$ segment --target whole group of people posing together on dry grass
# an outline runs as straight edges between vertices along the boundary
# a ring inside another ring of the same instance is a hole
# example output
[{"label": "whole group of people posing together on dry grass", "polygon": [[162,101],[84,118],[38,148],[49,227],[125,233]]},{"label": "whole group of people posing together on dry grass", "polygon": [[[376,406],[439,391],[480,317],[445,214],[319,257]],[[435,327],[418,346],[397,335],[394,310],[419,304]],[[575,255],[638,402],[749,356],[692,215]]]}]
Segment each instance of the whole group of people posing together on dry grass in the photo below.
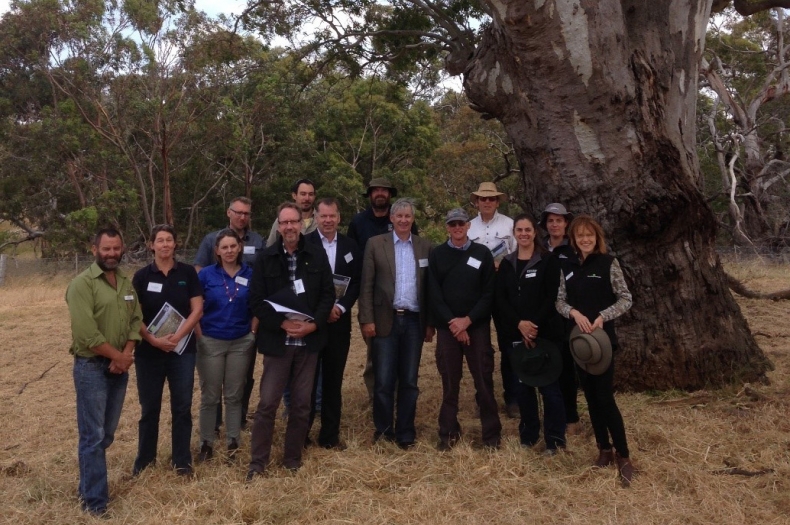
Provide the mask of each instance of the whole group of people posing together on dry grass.
[{"label": "whole group of people posing together on dry grass", "polygon": [[[417,235],[415,207],[387,180],[374,178],[369,206],[338,231],[332,198],[316,203],[308,179],[292,187],[266,240],[250,229],[251,201],[236,198],[229,227],[208,234],[193,265],[175,259],[170,225],[153,228],[153,261],[129,279],[118,269],[124,245],[114,229],[94,237],[95,262],[69,285],[79,430],[79,496],[102,514],[108,504],[104,453],[117,428],[128,381],[137,367],[141,406],[137,475],[156,462],[164,384],[170,391],[171,465],[193,473],[194,372],[200,386],[200,449],[215,455],[225,425],[225,460],[234,463],[247,424],[255,354],[263,355],[260,397],[252,419],[247,481],[270,463],[278,408],[288,400],[282,465],[297,470],[321,398],[318,445],[342,450],[342,381],[358,302],[367,344],[365,383],[374,441],[415,445],[418,370],[424,342],[436,337],[442,381],[437,449],[462,436],[460,380],[466,359],[475,388],[482,445],[498,448],[502,425],[494,392],[493,318],[501,353],[504,401],[517,417],[523,446],[540,435],[545,453],[565,447],[578,427],[577,377],[599,448],[598,467],[617,464],[625,482],[629,460],[623,420],[613,396],[617,338],[612,320],[631,296],[603,230],[592,218],[551,204],[540,222],[497,210],[506,196],[484,182],[472,193],[472,219],[462,208],[446,215],[448,240]],[[571,221],[571,219],[573,219]],[[548,232],[539,237],[538,227]],[[224,407],[224,413],[223,413]],[[223,421],[224,420],[224,421]]]}]

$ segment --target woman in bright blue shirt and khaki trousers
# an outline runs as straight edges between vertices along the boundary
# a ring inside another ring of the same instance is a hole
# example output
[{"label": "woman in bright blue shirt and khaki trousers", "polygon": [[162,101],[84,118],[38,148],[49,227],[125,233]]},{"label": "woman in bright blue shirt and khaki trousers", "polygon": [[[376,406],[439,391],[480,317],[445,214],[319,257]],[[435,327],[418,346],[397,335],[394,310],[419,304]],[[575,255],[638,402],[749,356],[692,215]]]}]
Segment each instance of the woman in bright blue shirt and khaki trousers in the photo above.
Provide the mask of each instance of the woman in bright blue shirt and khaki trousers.
[{"label": "woman in bright blue shirt and khaki trousers", "polygon": [[198,462],[214,455],[217,404],[225,397],[225,439],[228,460],[235,458],[241,434],[241,400],[247,368],[255,357],[253,343],[258,319],[250,313],[252,268],[242,262],[243,246],[231,229],[214,242],[217,264],[198,274],[205,304],[200,320],[197,368],[200,375],[200,454]]}]

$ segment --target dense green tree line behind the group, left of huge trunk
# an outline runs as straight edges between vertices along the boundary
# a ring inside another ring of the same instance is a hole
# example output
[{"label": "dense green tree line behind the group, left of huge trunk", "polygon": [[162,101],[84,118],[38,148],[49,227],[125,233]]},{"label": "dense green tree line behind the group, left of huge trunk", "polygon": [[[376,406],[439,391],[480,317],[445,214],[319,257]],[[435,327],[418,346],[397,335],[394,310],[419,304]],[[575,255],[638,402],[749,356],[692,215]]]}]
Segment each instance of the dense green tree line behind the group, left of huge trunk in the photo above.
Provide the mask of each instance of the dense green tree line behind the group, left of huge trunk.
[{"label": "dense green tree line behind the group, left of huge trunk", "polygon": [[467,106],[319,70],[180,2],[19,2],[0,21],[0,219],[45,256],[86,250],[101,224],[139,248],[172,223],[189,247],[236,195],[266,230],[298,178],[350,219],[383,176],[427,226],[509,175],[501,126]]}]

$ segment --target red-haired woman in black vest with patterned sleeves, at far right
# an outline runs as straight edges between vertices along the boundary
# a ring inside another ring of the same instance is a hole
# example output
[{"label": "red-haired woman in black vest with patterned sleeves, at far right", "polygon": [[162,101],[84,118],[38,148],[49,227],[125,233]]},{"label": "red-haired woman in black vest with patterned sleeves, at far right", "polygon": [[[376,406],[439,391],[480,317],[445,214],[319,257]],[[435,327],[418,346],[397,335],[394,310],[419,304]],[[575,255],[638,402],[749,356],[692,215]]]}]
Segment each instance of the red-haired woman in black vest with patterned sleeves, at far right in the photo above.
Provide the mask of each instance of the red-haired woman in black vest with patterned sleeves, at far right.
[{"label": "red-haired woman in black vest with patterned sleeves, at far right", "polygon": [[572,319],[582,333],[602,328],[612,344],[612,361],[603,373],[593,375],[579,367],[599,450],[595,466],[606,467],[616,461],[623,481],[630,483],[634,467],[629,460],[623,417],[614,399],[614,355],[618,346],[613,320],[631,308],[631,292],[617,259],[606,253],[603,229],[595,219],[576,217],[568,236],[579,259],[563,262],[557,311]]}]

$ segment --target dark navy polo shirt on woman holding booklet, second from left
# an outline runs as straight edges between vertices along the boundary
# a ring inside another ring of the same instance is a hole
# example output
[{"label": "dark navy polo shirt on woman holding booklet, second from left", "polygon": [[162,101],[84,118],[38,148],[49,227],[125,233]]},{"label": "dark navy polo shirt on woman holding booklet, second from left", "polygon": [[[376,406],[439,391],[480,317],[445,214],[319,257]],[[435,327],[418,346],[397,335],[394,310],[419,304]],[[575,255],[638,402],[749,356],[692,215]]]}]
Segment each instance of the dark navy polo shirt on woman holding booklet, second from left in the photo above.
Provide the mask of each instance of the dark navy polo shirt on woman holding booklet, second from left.
[{"label": "dark navy polo shirt on woman holding booklet, second from left", "polygon": [[[161,288],[160,286],[161,285]],[[140,268],[132,278],[132,286],[140,298],[143,310],[143,323],[146,326],[154,319],[162,306],[170,303],[178,313],[189,317],[192,312],[190,301],[193,297],[203,295],[203,287],[198,280],[197,272],[189,265],[176,261],[175,266],[165,275],[157,268],[156,262]],[[160,291],[157,291],[160,290]],[[195,337],[190,338],[184,352],[195,352]],[[138,350],[155,350],[147,341],[140,341]]]}]

